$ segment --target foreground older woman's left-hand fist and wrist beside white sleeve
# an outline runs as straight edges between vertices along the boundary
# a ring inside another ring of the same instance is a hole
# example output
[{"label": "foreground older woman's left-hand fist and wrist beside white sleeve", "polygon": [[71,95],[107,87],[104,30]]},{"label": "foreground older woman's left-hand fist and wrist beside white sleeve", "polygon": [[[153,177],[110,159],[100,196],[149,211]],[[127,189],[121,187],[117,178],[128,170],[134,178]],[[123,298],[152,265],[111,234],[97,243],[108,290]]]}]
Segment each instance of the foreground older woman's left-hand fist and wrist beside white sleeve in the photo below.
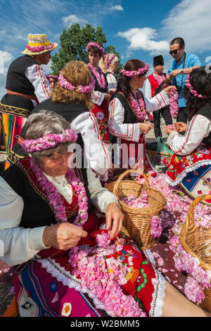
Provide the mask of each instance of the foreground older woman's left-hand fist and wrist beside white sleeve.
[{"label": "foreground older woman's left-hand fist and wrist beside white sleeve", "polygon": [[45,246],[66,251],[76,246],[81,237],[87,237],[87,235],[87,231],[84,231],[82,227],[70,223],[59,223],[45,228],[43,242]]}]

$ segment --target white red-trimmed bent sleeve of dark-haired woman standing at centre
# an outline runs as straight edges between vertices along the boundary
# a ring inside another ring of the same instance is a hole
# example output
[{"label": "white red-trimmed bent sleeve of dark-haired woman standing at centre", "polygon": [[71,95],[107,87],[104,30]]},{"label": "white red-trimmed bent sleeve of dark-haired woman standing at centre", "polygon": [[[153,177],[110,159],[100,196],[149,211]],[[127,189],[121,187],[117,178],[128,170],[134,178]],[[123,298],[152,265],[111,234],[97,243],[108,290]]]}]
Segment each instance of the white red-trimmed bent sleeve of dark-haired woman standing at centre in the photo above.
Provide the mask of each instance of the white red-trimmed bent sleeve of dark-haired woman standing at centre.
[{"label": "white red-trimmed bent sleeve of dark-haired woman standing at centre", "polygon": [[111,134],[117,138],[139,142],[141,133],[139,123],[124,123],[124,108],[117,98],[109,105],[108,127]]}]

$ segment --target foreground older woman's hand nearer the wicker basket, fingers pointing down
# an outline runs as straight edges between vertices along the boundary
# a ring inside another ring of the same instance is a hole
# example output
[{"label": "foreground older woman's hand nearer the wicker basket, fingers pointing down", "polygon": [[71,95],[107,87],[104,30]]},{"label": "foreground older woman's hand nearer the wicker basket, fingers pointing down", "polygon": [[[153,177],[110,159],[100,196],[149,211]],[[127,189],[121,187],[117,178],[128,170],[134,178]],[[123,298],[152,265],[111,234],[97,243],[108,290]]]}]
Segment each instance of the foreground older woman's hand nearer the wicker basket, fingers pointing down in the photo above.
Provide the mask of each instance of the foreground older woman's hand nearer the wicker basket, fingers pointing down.
[{"label": "foreground older woman's hand nearer the wicker basket, fingers pointing down", "polygon": [[122,229],[123,218],[124,214],[120,206],[115,202],[110,202],[106,208],[106,229],[108,230],[110,239],[116,237]]}]

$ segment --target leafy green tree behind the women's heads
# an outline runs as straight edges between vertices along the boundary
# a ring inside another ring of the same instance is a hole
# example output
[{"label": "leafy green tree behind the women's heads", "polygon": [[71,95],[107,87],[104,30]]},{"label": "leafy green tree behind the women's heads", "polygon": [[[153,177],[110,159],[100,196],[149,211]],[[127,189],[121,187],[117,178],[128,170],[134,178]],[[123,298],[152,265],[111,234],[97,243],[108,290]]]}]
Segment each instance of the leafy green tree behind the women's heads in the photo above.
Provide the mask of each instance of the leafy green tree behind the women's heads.
[{"label": "leafy green tree behind the women's heads", "polygon": [[[114,46],[106,46],[106,35],[101,27],[92,27],[87,24],[85,27],[80,27],[78,23],[72,24],[66,30],[63,29],[60,35],[60,49],[58,53],[51,56],[51,70],[53,75],[58,75],[59,71],[71,60],[89,62],[86,46],[89,42],[98,42],[103,46],[105,53],[114,53],[120,59],[120,54],[115,50]],[[119,60],[118,71],[123,68]]]}]

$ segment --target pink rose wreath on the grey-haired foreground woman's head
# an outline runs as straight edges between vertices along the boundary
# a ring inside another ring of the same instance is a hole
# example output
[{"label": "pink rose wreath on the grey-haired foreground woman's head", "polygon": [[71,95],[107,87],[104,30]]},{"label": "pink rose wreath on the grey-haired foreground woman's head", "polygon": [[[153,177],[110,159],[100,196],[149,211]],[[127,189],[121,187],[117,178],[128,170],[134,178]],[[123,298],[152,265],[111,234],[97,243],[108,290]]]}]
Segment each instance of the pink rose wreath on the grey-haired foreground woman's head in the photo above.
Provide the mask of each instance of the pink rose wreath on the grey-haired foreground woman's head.
[{"label": "pink rose wreath on the grey-haired foreground woman's head", "polygon": [[38,139],[25,139],[21,144],[22,148],[28,153],[34,151],[44,151],[44,149],[51,149],[62,142],[76,142],[77,133],[72,129],[65,130],[65,133],[49,134]]}]

